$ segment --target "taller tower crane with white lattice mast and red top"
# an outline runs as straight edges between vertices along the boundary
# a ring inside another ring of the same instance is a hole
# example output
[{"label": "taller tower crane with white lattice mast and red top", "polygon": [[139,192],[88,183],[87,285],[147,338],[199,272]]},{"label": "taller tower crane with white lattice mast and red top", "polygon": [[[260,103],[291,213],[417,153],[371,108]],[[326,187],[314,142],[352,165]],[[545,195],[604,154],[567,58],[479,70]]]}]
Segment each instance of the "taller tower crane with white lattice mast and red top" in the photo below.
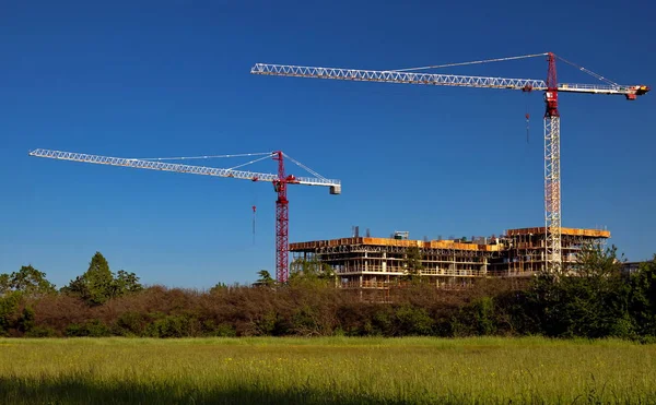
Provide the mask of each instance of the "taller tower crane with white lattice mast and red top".
[{"label": "taller tower crane with white lattice mast and red top", "polygon": [[[487,62],[507,61],[524,58],[547,57],[547,80],[534,79],[505,79],[484,78],[456,74],[435,74],[414,72],[419,70],[450,68],[465,64],[479,64]],[[578,70],[593,75],[605,84],[567,84],[558,83],[555,60],[576,67]],[[560,184],[560,112],[558,109],[559,93],[586,93],[623,95],[629,100],[646,94],[651,88],[646,85],[620,85],[594,73],[583,67],[576,65],[553,52],[526,55],[518,57],[478,60],[422,68],[397,70],[361,70],[343,68],[319,68],[292,64],[256,63],[250,69],[251,74],[333,79],[358,82],[383,82],[424,84],[436,86],[480,87],[520,90],[523,92],[544,92],[544,261],[546,271],[559,273],[562,267],[561,255],[561,184]]]}]

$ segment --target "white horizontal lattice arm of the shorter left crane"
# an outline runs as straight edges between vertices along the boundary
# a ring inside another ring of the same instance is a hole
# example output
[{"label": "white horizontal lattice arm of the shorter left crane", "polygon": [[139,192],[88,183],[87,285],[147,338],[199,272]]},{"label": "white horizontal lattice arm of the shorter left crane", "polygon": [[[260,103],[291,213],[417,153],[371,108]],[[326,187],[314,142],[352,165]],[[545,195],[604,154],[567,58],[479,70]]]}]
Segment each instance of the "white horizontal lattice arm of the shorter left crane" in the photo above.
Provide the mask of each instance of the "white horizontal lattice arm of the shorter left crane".
[{"label": "white horizontal lattice arm of the shorter left crane", "polygon": [[[97,165],[133,167],[133,168],[138,168],[138,169],[187,172],[187,174],[191,174],[191,175],[204,175],[204,176],[216,176],[216,177],[232,177],[232,178],[236,178],[236,179],[244,179],[244,180],[251,180],[251,181],[271,181],[271,182],[273,182],[273,181],[278,180],[278,176],[272,175],[272,174],[221,169],[221,168],[215,168],[215,167],[180,165],[180,164],[175,164],[175,163],[131,159],[131,158],[126,158],[126,157],[97,156],[97,155],[87,155],[87,154],[83,154],[83,153],[49,151],[49,150],[42,150],[42,148],[30,152],[30,156],[47,157],[47,158],[59,159],[59,160],[93,163],[93,164],[97,164]],[[293,184],[304,184],[304,186],[326,186],[326,187],[333,187],[333,188],[338,188],[338,189],[340,187],[339,180],[319,179],[319,178],[312,178],[312,177],[290,176],[290,177],[288,177],[285,182],[293,183]]]}]

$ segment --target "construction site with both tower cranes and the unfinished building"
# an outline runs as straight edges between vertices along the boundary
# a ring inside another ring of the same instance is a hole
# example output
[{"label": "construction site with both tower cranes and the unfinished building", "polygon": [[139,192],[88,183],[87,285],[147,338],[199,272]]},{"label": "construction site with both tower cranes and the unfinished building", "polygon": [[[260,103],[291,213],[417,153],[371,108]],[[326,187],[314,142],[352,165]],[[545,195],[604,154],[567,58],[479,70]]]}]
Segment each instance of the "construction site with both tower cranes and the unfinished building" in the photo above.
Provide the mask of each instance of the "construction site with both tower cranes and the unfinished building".
[{"label": "construction site with both tower cranes and the unfinished building", "polygon": [[[544,57],[547,79],[508,79],[495,76],[469,76],[443,73],[426,73],[425,69],[471,65]],[[585,72],[602,84],[559,83],[557,60]],[[539,228],[508,229],[500,237],[472,238],[471,240],[411,240],[408,233],[396,233],[389,238],[352,238],[289,242],[289,186],[324,187],[332,195],[341,194],[342,183],[329,179],[295,160],[282,151],[231,155],[202,155],[153,158],[126,158],[91,155],[37,148],[31,156],[58,160],[91,163],[97,165],[131,167],[149,170],[185,172],[192,175],[224,177],[268,182],[273,184],[276,200],[276,279],[285,283],[290,274],[289,255],[298,261],[313,260],[330,266],[339,276],[343,288],[386,289],[408,276],[425,277],[431,284],[443,288],[460,288],[481,277],[527,277],[538,272],[560,274],[567,272],[576,260],[577,252],[588,242],[604,241],[610,237],[607,230],[576,229],[562,227],[561,199],[561,127],[559,94],[588,94],[622,96],[635,100],[647,94],[649,86],[643,84],[621,85],[595,72],[558,57],[553,52],[517,57],[448,63],[442,65],[410,68],[402,70],[362,70],[350,68],[321,68],[292,64],[256,63],[251,74],[265,76],[314,78],[350,82],[402,83],[427,86],[475,87],[515,90],[523,93],[543,92],[544,98],[544,226]],[[528,121],[529,114],[526,114]],[[229,168],[194,166],[166,160],[210,159],[248,157],[249,162]],[[257,162],[272,159],[277,163],[276,174],[235,170]],[[297,177],[289,174],[286,163],[293,163],[314,177]],[[253,205],[253,229],[255,235],[256,206]]]}]

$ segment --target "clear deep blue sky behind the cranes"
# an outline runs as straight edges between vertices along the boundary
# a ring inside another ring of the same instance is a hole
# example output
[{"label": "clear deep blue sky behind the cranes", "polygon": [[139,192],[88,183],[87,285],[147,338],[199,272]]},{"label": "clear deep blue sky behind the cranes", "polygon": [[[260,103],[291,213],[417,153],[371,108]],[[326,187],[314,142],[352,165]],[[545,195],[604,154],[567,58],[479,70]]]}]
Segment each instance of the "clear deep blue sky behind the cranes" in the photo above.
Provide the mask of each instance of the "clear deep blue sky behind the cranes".
[{"label": "clear deep blue sky behind the cranes", "polygon": [[[618,83],[656,85],[656,29],[644,17],[653,2],[550,4],[4,2],[0,272],[31,263],[62,286],[95,251],[145,284],[207,288],[273,271],[270,184],[28,157],[36,147],[121,157],[282,150],[342,181],[341,195],[290,188],[292,241],[348,237],[353,225],[417,239],[542,226],[541,94],[249,71],[553,51]],[[547,63],[447,72],[544,79]],[[563,63],[559,80],[596,83]],[[561,96],[563,226],[607,227],[631,260],[656,252],[655,97]]]}]

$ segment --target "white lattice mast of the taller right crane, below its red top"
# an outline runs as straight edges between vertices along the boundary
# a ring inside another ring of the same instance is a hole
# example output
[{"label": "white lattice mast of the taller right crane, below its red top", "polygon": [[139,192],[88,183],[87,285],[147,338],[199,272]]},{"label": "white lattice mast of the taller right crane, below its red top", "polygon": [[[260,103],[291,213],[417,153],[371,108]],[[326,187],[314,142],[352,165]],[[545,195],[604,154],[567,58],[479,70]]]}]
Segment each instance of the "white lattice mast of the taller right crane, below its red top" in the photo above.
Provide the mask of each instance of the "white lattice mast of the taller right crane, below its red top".
[{"label": "white lattice mast of the taller right crane, below its red top", "polygon": [[544,224],[546,270],[558,274],[562,270],[560,117],[544,117]]}]

